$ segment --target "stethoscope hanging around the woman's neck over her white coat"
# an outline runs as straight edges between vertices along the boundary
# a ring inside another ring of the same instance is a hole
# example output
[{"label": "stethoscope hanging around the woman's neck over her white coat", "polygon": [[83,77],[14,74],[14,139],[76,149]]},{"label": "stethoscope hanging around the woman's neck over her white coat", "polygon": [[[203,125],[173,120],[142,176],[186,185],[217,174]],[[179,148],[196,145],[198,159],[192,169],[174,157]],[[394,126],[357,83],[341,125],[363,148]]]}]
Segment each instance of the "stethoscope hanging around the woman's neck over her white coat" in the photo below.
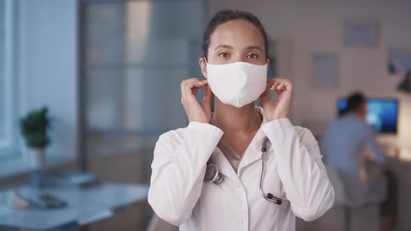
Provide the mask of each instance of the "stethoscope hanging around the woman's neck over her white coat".
[{"label": "stethoscope hanging around the woman's neck over her white coat", "polygon": [[[261,147],[261,152],[263,152],[261,156],[261,177],[260,177],[260,192],[261,195],[265,200],[268,200],[270,202],[274,202],[277,205],[281,205],[281,203],[284,200],[287,200],[286,198],[279,198],[272,193],[267,193],[265,194],[263,191],[263,177],[264,177],[264,169],[265,169],[265,161],[267,160],[267,144],[268,138],[265,138],[263,141],[263,147]],[[204,181],[206,182],[213,182],[215,184],[220,184],[224,179],[224,176],[222,173],[219,172],[219,168],[213,164],[211,161],[207,162],[207,167],[206,167],[206,175],[204,176]]]}]

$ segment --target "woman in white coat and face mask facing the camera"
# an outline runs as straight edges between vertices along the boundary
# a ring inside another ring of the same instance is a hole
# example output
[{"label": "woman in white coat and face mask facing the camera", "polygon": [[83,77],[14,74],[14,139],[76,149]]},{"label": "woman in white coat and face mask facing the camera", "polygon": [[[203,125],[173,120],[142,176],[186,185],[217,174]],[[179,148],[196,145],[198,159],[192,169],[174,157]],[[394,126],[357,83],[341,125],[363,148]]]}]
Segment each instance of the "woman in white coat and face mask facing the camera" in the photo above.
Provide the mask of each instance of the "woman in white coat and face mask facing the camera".
[{"label": "woman in white coat and face mask facing the camera", "polygon": [[[295,230],[295,215],[313,221],[334,203],[317,141],[288,120],[293,83],[267,80],[267,43],[251,13],[222,10],[208,24],[206,79],[181,83],[189,125],[160,136],[148,193],[155,213],[180,230]],[[212,179],[213,166],[222,179]]]}]

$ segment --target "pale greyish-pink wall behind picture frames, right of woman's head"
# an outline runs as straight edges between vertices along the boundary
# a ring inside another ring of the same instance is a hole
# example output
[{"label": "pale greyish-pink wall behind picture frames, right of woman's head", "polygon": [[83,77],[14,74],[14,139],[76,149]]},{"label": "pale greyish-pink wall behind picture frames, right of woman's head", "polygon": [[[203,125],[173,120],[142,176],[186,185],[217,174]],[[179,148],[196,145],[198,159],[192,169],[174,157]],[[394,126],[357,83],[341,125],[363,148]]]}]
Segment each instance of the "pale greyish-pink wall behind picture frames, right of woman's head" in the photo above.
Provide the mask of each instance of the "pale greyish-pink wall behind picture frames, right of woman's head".
[{"label": "pale greyish-pink wall behind picture frames, right of woman's head", "polygon": [[[222,8],[248,10],[261,19],[270,38],[293,40],[293,74],[281,77],[295,83],[292,120],[297,125],[320,125],[336,116],[336,99],[353,90],[369,96],[394,96],[398,77],[387,74],[387,50],[411,47],[410,1],[270,1],[210,0],[208,19]],[[344,20],[377,19],[378,47],[343,47]],[[312,54],[332,51],[339,58],[338,90],[314,90]],[[280,67],[281,68],[281,67]],[[408,122],[409,124],[409,122]],[[318,128],[320,127],[320,128]],[[410,127],[410,125],[408,125]],[[313,131],[320,133],[321,131]]]}]

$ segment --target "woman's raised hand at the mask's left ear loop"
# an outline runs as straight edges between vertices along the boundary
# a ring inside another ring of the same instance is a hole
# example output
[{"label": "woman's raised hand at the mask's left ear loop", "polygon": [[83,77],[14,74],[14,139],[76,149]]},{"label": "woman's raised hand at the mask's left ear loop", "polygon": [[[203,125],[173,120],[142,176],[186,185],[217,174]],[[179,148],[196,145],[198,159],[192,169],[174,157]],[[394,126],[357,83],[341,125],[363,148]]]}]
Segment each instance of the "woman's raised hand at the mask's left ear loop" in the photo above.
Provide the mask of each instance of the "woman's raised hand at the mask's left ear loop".
[{"label": "woman's raised hand at the mask's left ear loop", "polygon": [[[196,99],[196,93],[203,87],[203,102],[199,103]],[[200,81],[199,79],[192,78],[181,82],[181,104],[183,104],[189,122],[210,123],[211,97],[212,93],[207,79]]]}]

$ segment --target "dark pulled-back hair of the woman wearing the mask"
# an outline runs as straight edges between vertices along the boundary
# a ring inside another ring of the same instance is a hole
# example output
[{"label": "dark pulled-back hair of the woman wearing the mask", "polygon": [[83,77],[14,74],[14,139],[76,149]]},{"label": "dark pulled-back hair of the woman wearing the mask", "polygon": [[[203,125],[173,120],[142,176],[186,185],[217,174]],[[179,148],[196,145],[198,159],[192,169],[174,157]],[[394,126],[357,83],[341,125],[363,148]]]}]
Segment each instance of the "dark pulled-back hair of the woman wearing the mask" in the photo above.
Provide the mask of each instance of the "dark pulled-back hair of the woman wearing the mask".
[{"label": "dark pulled-back hair of the woman wearing the mask", "polygon": [[256,26],[256,28],[261,32],[264,38],[264,45],[265,45],[265,58],[268,56],[268,38],[267,33],[265,33],[265,29],[263,24],[261,24],[260,19],[255,15],[247,12],[247,11],[240,11],[240,10],[230,10],[224,9],[217,12],[214,17],[208,22],[206,31],[204,31],[203,36],[203,56],[207,57],[208,53],[208,46],[210,45],[210,37],[212,33],[215,31],[217,26],[223,24],[224,22],[229,22],[235,19],[244,19],[247,22],[251,22]]}]

